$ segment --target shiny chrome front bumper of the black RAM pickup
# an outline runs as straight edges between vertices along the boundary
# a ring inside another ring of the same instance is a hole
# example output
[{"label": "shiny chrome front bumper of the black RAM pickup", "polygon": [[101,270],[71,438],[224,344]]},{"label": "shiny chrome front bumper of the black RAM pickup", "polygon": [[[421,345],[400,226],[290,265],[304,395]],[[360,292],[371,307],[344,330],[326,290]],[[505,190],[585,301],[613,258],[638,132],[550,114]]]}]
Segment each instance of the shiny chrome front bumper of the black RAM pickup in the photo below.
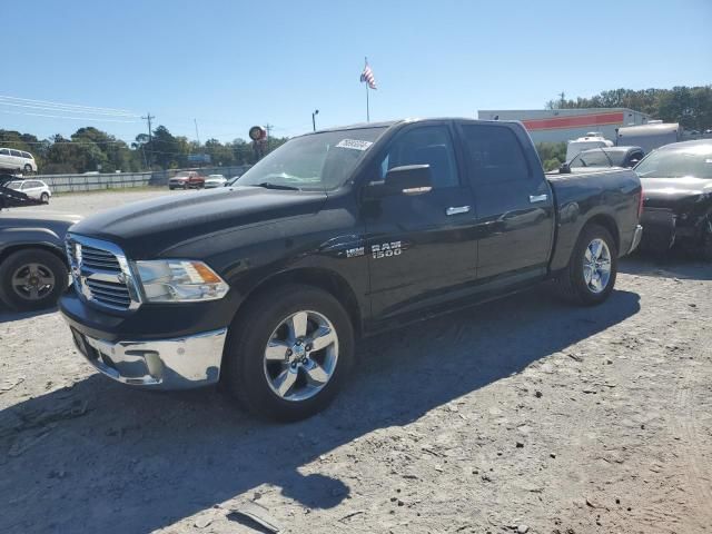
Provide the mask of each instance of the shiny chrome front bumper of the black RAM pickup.
[{"label": "shiny chrome front bumper of the black RAM pickup", "polygon": [[218,382],[227,328],[175,339],[108,343],[80,334],[77,348],[99,373],[151,389],[189,389]]}]

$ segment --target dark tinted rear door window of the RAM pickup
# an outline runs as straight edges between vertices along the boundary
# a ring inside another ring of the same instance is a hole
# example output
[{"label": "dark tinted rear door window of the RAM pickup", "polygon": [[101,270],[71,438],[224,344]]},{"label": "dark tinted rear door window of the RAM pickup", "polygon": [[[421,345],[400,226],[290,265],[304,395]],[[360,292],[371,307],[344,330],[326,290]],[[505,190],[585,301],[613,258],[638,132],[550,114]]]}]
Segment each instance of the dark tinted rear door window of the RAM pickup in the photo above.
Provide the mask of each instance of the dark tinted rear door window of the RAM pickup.
[{"label": "dark tinted rear door window of the RAM pickup", "polygon": [[523,180],[530,168],[514,132],[502,126],[464,125],[463,141],[475,180]]}]

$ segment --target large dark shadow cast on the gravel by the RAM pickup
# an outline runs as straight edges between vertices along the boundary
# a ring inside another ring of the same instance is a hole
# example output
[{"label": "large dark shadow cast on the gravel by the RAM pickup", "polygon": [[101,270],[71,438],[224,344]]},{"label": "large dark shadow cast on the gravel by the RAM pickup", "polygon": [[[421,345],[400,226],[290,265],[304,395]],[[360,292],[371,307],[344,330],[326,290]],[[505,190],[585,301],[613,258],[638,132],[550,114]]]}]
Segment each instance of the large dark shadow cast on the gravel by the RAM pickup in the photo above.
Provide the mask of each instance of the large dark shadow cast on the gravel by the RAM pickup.
[{"label": "large dark shadow cast on the gravel by the RAM pickup", "polygon": [[334,507],[355,481],[328,475],[336,447],[407,425],[640,309],[627,291],[595,308],[567,308],[545,294],[362,343],[357,372],[334,405],[291,425],[255,421],[215,392],[151,394],[97,375],[8,407],[0,412],[0,531],[149,532],[249,500],[263,484],[305,507]]}]

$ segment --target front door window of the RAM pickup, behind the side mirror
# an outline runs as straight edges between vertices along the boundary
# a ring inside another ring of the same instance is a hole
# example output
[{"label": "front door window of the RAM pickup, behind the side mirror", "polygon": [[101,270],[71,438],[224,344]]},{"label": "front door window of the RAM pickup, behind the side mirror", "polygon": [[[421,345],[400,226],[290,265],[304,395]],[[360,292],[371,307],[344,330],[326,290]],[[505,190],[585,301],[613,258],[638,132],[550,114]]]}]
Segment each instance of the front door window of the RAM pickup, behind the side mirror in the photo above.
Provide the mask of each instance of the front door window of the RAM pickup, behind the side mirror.
[{"label": "front door window of the RAM pickup, behind the side mirror", "polygon": [[433,188],[459,185],[455,151],[446,126],[424,126],[407,130],[393,141],[380,162],[380,177],[404,165],[429,165]]}]

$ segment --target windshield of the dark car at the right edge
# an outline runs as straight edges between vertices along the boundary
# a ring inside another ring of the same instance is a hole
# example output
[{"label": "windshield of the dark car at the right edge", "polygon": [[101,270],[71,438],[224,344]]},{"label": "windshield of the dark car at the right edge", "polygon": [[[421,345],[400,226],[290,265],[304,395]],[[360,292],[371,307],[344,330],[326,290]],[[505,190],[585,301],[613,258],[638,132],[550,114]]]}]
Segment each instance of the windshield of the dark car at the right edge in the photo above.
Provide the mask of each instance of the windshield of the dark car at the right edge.
[{"label": "windshield of the dark car at the right edge", "polygon": [[635,171],[641,178],[712,178],[712,144],[656,150]]}]

